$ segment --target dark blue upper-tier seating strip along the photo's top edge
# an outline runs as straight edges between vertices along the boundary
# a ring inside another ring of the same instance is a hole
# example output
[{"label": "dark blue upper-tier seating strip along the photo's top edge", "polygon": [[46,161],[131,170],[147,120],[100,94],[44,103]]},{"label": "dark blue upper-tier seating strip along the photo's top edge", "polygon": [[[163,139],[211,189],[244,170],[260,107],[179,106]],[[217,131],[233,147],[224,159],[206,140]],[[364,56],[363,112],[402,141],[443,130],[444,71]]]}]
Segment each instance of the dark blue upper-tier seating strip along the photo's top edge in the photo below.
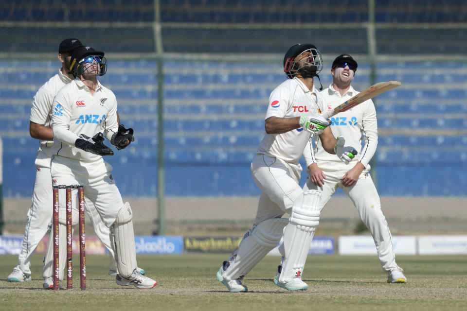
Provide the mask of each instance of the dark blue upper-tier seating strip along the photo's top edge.
[{"label": "dark blue upper-tier seating strip along the photo's top edge", "polygon": [[[384,23],[465,22],[462,1],[375,1],[375,20]],[[352,23],[368,21],[368,0],[161,0],[162,22],[190,23]],[[447,9],[448,8],[448,9]],[[0,19],[7,21],[150,22],[154,0],[2,1]]]}]

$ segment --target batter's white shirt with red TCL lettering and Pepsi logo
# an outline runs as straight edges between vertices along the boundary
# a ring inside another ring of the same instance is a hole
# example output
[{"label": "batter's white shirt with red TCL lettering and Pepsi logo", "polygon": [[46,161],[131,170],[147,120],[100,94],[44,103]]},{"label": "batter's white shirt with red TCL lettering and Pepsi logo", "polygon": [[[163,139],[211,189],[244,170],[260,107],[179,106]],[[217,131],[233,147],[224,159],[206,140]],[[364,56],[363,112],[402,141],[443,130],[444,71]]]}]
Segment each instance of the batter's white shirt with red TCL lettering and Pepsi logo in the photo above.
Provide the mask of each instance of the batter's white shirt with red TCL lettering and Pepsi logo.
[{"label": "batter's white shirt with red TCL lettering and Pepsi logo", "polygon": [[[302,81],[293,78],[284,81],[271,92],[265,120],[269,117],[294,118],[317,114],[321,113],[324,107],[324,99],[314,86],[313,91],[310,91]],[[283,134],[265,133],[256,153],[275,156],[284,161],[298,164],[307,144],[308,149],[310,149],[311,136],[312,134],[303,128]],[[305,157],[305,161],[312,163],[309,156]]]}]

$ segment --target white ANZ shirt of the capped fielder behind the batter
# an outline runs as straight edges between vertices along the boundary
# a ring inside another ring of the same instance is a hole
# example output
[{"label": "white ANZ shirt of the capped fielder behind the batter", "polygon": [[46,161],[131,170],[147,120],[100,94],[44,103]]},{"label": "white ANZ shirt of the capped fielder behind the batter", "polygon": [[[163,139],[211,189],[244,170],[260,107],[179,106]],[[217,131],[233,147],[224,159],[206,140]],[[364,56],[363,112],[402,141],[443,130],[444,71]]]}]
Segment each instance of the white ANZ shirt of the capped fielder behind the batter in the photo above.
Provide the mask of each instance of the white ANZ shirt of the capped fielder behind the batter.
[{"label": "white ANZ shirt of the capped fielder behind the batter", "polygon": [[[321,92],[327,104],[327,108],[324,111],[334,109],[336,106],[351,99],[358,93],[358,91],[350,86],[347,92],[341,96],[341,94],[330,85]],[[359,155],[352,159],[349,165],[354,166],[355,162],[359,161],[369,170],[368,164],[375,154],[378,144],[378,126],[376,109],[373,101],[370,99],[352,109],[340,112],[332,117],[331,121],[331,130],[334,137],[342,135],[345,138],[346,145],[359,150]],[[365,138],[363,147],[361,146],[362,136]],[[318,165],[320,161],[335,161],[345,165],[338,156],[330,155],[323,149],[318,136],[315,137],[315,158],[318,161]]]}]

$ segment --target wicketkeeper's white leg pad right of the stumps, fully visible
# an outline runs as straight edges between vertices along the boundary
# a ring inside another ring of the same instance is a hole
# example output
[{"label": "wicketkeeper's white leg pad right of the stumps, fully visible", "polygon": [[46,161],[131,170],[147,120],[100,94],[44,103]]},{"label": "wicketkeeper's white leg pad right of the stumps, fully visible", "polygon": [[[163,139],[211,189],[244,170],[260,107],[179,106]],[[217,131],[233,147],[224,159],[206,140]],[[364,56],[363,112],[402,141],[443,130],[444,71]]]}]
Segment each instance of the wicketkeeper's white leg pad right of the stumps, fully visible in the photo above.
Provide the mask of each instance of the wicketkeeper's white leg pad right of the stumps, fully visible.
[{"label": "wicketkeeper's white leg pad right of the stumps, fully visible", "polygon": [[126,202],[118,211],[115,223],[110,226],[110,244],[115,253],[118,272],[124,277],[130,276],[137,266],[132,218],[133,211]]}]

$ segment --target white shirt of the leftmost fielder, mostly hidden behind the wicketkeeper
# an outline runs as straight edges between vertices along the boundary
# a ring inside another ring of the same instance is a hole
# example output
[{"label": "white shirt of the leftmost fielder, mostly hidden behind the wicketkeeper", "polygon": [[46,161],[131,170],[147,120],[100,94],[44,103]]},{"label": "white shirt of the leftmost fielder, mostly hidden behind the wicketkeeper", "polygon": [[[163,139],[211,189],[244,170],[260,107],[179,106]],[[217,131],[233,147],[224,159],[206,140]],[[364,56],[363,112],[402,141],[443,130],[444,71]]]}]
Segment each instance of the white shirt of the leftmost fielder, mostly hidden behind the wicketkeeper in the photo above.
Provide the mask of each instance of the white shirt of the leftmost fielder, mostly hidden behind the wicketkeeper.
[{"label": "white shirt of the leftmost fielder, mostly hidden behind the wicketkeeper", "polygon": [[[59,69],[56,75],[44,83],[34,96],[29,121],[52,128],[52,103],[54,97],[63,86],[70,82],[72,80]],[[39,140],[39,150],[34,163],[36,166],[50,168],[50,147],[53,144],[52,140]]]}]

